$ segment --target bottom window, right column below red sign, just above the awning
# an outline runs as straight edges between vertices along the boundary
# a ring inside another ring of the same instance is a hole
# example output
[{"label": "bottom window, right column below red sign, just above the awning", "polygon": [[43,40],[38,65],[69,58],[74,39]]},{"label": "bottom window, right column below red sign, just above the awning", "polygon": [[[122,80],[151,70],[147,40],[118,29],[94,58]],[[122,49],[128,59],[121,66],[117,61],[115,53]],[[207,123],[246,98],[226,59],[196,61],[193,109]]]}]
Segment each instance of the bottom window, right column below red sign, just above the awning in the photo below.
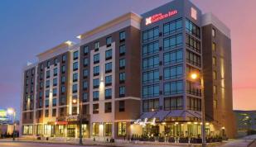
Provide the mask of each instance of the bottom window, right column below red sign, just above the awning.
[{"label": "bottom window, right column below red sign, just above the awning", "polygon": [[183,109],[183,98],[182,97],[166,97],[164,99],[164,110],[181,110]]}]

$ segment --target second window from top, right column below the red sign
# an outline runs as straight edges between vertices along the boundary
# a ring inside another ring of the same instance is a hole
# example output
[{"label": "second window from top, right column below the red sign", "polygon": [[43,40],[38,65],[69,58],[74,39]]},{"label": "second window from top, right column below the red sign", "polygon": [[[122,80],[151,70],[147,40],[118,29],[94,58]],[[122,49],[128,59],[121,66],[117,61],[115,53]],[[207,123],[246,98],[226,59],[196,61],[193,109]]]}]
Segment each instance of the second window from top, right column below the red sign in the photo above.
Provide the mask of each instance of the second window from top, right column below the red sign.
[{"label": "second window from top, right column below the red sign", "polygon": [[171,50],[182,45],[182,35],[178,34],[175,36],[170,36],[163,40],[163,49],[164,50]]}]

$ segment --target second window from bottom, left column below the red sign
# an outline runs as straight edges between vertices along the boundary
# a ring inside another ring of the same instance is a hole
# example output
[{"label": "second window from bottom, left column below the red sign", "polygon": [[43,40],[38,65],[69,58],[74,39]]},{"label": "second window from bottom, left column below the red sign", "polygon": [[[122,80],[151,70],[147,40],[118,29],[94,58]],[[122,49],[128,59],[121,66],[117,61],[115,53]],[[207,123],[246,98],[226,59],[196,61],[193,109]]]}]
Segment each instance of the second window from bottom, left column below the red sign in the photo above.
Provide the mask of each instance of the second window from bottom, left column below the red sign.
[{"label": "second window from bottom, left column below the red sign", "polygon": [[159,85],[147,85],[142,88],[142,97],[158,97],[159,96]]}]

